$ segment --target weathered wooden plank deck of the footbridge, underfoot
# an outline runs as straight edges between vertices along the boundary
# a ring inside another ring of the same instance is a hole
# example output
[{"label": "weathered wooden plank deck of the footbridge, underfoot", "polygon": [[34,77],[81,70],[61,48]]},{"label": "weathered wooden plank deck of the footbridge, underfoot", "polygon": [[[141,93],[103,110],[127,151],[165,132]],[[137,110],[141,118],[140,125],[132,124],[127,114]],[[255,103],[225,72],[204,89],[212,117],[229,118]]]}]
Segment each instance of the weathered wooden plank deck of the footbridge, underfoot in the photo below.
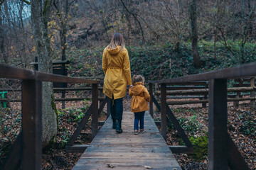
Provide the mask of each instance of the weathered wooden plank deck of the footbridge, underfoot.
[{"label": "weathered wooden plank deck of the footbridge, underfoot", "polygon": [[144,121],[146,132],[134,135],[134,113],[124,112],[117,134],[108,118],[73,169],[181,169],[149,113]]}]

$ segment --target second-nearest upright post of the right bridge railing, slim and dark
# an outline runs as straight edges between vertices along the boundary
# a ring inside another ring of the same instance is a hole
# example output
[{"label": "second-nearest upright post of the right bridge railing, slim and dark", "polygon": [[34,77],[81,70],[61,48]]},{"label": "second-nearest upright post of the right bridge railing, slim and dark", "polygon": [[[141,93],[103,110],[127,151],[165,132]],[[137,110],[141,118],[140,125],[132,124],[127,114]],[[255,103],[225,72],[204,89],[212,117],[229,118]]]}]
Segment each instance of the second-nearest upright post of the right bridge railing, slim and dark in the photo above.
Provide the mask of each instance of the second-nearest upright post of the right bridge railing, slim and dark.
[{"label": "second-nearest upright post of the right bridge railing, slim and dark", "polygon": [[161,84],[161,135],[166,140],[166,84]]}]

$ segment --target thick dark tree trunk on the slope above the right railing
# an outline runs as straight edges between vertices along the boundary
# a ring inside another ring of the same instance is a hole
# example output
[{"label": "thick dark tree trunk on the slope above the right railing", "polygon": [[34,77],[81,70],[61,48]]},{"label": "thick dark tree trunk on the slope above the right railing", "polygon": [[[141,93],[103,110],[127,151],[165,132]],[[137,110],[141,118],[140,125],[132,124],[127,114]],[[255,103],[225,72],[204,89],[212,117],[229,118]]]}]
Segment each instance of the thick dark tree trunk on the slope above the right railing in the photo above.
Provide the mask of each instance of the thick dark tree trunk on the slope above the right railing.
[{"label": "thick dark tree trunk on the slope above the right railing", "polygon": [[191,19],[191,41],[192,41],[192,56],[193,62],[196,67],[201,67],[201,60],[198,53],[198,29],[197,29],[197,13],[196,13],[196,0],[193,0],[189,8],[190,19]]}]

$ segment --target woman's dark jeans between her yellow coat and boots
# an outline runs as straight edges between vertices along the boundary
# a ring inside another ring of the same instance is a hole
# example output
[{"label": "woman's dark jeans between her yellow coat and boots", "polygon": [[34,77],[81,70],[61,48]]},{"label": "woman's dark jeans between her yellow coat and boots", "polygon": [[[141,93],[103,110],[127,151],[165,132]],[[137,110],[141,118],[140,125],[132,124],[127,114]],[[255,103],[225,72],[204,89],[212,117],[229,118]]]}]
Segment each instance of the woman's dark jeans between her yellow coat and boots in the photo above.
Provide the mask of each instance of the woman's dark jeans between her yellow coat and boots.
[{"label": "woman's dark jeans between her yellow coat and boots", "polygon": [[113,120],[122,120],[122,113],[123,113],[122,98],[115,99],[114,104],[112,99],[110,98],[110,113],[111,113],[111,118]]}]

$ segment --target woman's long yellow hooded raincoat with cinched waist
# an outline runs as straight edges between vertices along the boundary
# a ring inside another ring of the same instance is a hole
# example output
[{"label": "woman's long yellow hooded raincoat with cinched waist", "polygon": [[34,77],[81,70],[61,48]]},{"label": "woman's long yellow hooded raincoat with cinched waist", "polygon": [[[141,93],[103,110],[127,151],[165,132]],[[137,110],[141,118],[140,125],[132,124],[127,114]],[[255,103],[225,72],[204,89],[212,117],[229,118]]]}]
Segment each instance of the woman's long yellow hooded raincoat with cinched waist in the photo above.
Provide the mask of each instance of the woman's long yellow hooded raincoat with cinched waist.
[{"label": "woman's long yellow hooded raincoat with cinched waist", "polygon": [[127,49],[121,47],[105,48],[102,57],[102,69],[105,74],[103,93],[114,99],[123,98],[127,84],[132,85],[131,69]]}]

